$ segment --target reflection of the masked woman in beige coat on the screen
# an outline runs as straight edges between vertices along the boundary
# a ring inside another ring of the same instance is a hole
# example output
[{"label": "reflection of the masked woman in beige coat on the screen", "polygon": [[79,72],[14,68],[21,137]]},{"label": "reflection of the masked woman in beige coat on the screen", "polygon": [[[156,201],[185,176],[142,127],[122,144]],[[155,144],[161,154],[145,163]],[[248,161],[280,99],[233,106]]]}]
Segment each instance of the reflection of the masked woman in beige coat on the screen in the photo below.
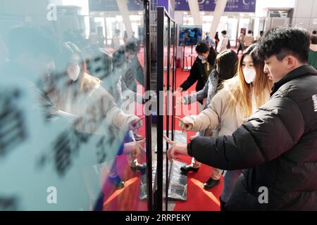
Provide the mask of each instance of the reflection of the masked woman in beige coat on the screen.
[{"label": "reflection of the masked woman in beige coat on the screen", "polygon": [[[57,110],[82,117],[77,129],[94,134],[95,128],[107,119],[125,133],[139,120],[135,115],[123,113],[111,94],[101,86],[101,80],[87,73],[85,60],[75,44],[63,44],[58,62],[56,72],[59,73],[50,77],[46,92]],[[94,118],[88,118],[89,113]]]}]

